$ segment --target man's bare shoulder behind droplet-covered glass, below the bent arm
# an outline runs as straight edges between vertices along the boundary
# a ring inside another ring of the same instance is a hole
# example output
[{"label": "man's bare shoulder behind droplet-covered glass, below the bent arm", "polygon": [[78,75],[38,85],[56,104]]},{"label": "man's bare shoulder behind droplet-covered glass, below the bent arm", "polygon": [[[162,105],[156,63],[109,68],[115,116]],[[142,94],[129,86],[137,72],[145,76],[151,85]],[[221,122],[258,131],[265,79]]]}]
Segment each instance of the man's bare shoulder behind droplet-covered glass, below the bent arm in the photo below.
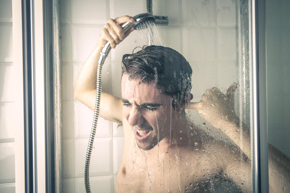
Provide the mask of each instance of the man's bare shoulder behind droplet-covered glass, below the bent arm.
[{"label": "man's bare shoulder behind droplet-covered glass, below the bent arm", "polygon": [[[230,188],[234,192],[251,190],[251,160],[233,143],[211,136],[204,126],[188,121],[189,139],[185,146],[188,174],[185,192]],[[190,161],[189,161],[190,160]]]}]

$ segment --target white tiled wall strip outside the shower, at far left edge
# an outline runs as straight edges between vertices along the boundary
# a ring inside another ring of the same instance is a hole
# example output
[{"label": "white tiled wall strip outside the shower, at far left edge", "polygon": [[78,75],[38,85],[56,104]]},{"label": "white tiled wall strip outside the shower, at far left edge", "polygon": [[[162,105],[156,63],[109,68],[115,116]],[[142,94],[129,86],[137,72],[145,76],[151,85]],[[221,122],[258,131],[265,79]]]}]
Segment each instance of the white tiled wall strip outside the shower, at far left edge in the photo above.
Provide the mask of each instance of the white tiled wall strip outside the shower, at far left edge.
[{"label": "white tiled wall strip outside the shower, at far left edge", "polygon": [[15,192],[15,100],[13,88],[21,83],[14,76],[12,0],[0,1],[0,192]]}]

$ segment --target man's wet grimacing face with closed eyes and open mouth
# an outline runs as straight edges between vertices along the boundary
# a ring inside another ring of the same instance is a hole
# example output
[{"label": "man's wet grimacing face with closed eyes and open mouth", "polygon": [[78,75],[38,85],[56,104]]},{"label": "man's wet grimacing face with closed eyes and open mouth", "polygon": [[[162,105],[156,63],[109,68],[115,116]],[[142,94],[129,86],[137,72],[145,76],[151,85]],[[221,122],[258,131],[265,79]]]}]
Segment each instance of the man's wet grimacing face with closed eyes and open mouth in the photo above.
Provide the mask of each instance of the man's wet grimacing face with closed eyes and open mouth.
[{"label": "man's wet grimacing face with closed eyes and open mouth", "polygon": [[[132,132],[135,133],[137,130],[135,135],[137,145],[143,150],[150,150],[158,142],[156,119],[159,126],[159,141],[170,132],[171,97],[160,93],[153,82],[139,84],[139,80],[128,80],[127,74],[122,76],[121,87],[123,113],[133,129]],[[175,111],[172,109],[172,124],[173,117]]]}]

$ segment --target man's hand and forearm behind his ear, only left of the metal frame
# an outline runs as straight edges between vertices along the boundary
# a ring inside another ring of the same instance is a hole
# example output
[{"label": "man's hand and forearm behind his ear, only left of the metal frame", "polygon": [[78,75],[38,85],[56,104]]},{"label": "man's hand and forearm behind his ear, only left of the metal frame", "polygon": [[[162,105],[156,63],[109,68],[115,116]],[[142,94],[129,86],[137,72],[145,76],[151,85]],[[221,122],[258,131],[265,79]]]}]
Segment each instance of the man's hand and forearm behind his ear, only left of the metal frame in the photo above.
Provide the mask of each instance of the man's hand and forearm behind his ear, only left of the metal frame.
[{"label": "man's hand and forearm behind his ear, only left of the metal frame", "polygon": [[244,123],[240,123],[235,113],[234,92],[237,87],[238,84],[232,84],[226,94],[216,87],[207,89],[200,102],[191,102],[186,108],[196,109],[210,124],[231,138],[251,159],[250,129]]}]

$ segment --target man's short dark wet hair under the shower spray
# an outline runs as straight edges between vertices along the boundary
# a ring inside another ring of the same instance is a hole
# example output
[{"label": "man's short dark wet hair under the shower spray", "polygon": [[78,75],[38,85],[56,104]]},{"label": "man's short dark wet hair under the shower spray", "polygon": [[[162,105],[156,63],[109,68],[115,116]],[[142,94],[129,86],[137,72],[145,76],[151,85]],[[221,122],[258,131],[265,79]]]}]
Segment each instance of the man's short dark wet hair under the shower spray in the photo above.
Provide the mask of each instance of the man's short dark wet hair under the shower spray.
[{"label": "man's short dark wet hair under the shower spray", "polygon": [[[136,49],[141,49],[134,53]],[[132,54],[122,58],[122,75],[139,84],[154,83],[165,95],[173,99],[172,106],[180,107],[191,90],[192,69],[186,59],[174,49],[163,46],[136,47]]]}]

